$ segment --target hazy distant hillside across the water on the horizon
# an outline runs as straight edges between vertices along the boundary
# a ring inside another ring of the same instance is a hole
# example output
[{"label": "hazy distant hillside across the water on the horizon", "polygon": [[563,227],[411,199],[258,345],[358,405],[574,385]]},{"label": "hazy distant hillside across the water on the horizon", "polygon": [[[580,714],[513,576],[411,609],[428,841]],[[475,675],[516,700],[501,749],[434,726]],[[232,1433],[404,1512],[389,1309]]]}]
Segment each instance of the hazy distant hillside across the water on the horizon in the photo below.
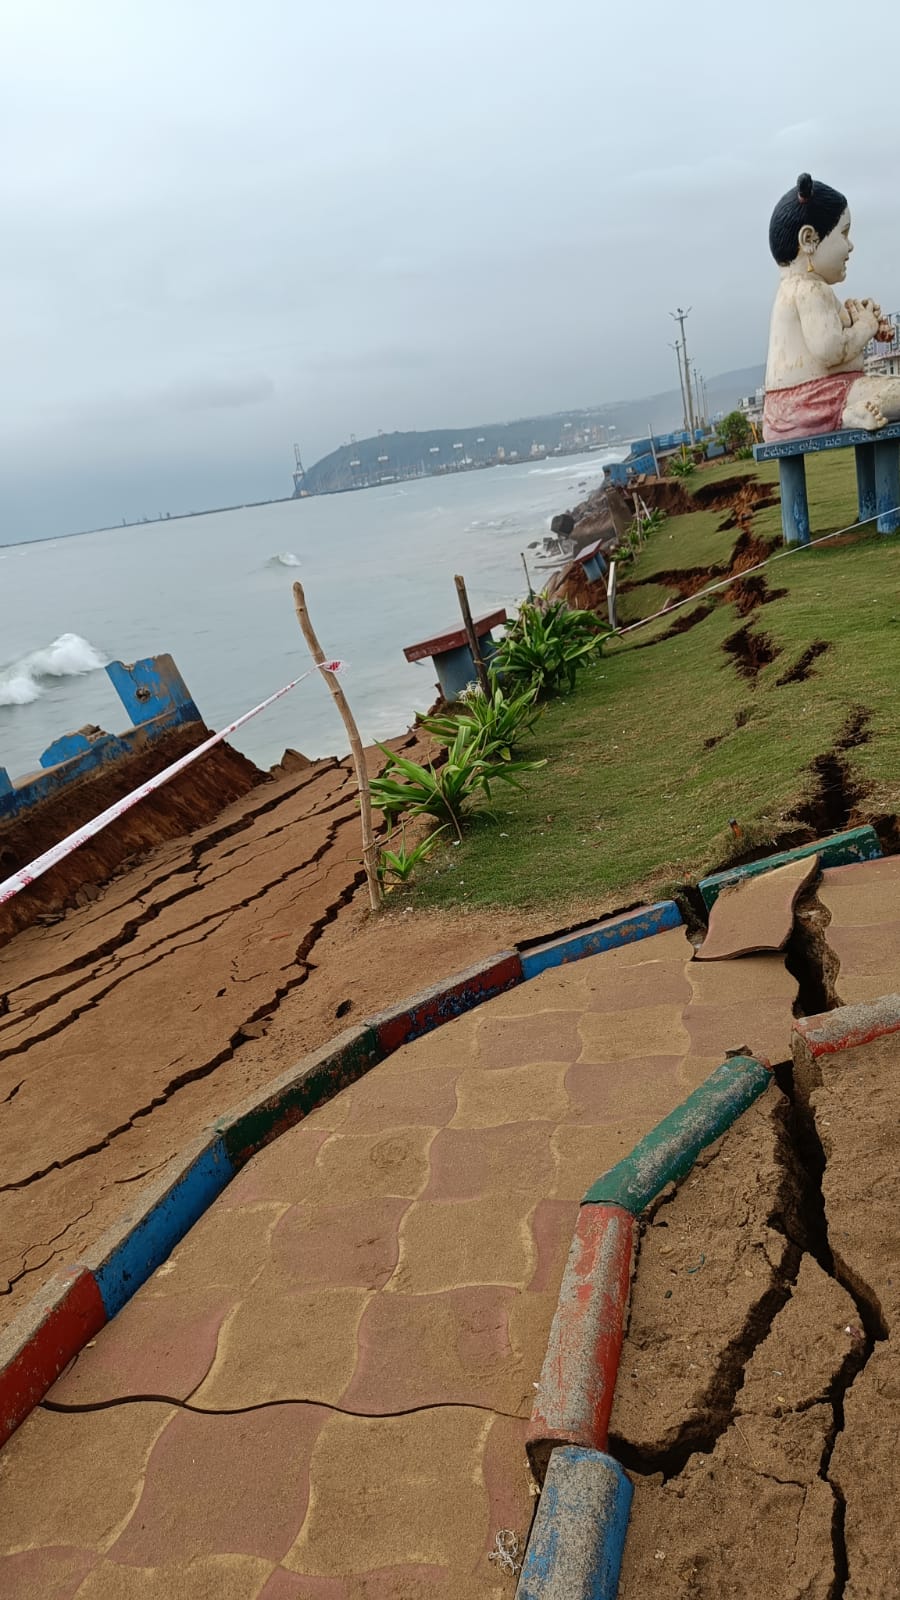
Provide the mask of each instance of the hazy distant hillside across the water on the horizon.
[{"label": "hazy distant hillside across the water on the horizon", "polygon": [[[753,394],[762,382],[762,366],[745,366],[708,382],[713,414],[733,410],[741,395]],[[588,450],[641,437],[649,427],[665,434],[681,422],[681,392],[669,389],[645,400],[613,400],[585,411],[554,411],[514,422],[378,434],[375,438],[351,438],[349,445],[322,456],[307,469],[303,488],[309,494],[333,494],[392,478],[428,477],[495,461]]]}]

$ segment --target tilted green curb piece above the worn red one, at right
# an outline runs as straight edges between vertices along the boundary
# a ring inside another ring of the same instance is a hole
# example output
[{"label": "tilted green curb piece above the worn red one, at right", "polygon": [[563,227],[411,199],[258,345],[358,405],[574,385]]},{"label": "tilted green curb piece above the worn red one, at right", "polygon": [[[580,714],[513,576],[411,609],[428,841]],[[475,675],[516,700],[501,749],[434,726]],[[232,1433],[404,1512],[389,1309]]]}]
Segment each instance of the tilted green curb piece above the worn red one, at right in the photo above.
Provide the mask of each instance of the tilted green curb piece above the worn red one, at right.
[{"label": "tilted green curb piece above the worn red one, at right", "polygon": [[761,1061],[730,1056],[631,1155],[597,1178],[581,1205],[623,1206],[637,1214],[660,1189],[685,1178],[700,1150],[719,1139],[770,1082],[772,1072]]}]

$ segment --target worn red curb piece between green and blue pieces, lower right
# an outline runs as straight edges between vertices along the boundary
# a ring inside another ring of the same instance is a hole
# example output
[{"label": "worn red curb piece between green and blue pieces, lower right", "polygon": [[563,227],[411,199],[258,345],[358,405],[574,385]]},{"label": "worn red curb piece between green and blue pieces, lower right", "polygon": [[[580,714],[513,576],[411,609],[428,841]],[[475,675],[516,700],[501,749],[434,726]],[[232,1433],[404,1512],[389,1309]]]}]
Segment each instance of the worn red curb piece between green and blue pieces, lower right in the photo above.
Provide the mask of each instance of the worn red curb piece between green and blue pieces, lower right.
[{"label": "worn red curb piece between green and blue pieces, lower right", "polygon": [[634,1218],[583,1205],[525,1435],[543,1482],[554,1445],[605,1450],[634,1264]]}]

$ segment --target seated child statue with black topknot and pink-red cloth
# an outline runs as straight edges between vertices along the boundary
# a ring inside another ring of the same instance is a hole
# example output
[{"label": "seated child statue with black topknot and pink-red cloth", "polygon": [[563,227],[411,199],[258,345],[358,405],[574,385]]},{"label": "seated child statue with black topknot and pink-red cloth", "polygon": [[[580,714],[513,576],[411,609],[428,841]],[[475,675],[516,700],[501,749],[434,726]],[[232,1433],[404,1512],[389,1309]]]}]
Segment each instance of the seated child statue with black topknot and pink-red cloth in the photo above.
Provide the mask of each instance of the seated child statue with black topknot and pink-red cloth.
[{"label": "seated child statue with black topknot and pink-red cloth", "polygon": [[866,344],[890,341],[890,322],[874,301],[841,304],[831,288],[844,282],[854,248],[844,195],[801,173],[772,213],[769,248],[781,282],[769,328],[762,437],[873,432],[900,419],[900,378],[863,374]]}]

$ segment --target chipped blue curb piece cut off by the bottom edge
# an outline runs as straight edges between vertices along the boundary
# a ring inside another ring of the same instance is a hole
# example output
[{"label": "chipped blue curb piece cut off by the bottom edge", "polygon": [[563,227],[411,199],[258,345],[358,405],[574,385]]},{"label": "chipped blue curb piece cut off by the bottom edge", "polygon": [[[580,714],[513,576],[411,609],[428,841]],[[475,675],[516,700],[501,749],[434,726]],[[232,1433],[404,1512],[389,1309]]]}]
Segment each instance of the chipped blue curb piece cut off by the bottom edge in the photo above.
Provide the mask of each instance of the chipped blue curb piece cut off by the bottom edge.
[{"label": "chipped blue curb piece cut off by the bottom edge", "polygon": [[556,1450],[516,1600],[615,1600],[633,1494],[612,1456]]}]

